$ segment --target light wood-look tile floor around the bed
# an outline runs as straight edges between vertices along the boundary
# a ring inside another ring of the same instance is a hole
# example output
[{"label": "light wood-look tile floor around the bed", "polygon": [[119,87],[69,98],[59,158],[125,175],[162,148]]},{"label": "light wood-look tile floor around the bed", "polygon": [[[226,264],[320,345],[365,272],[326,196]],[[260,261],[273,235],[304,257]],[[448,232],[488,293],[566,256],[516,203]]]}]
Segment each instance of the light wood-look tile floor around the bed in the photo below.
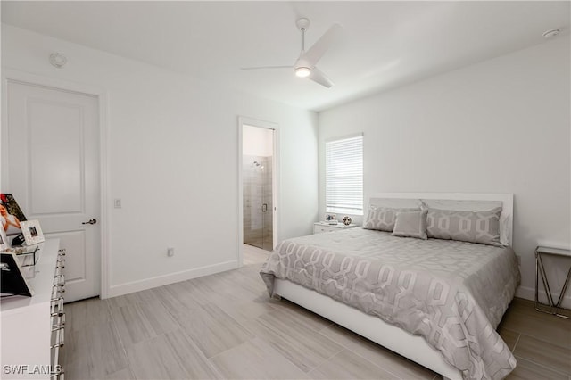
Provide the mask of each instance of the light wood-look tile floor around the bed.
[{"label": "light wood-look tile floor around the bed", "polygon": [[[441,379],[429,369],[285,300],[243,268],[109,300],[66,304],[62,364],[74,379]],[[499,332],[509,379],[571,380],[571,320],[516,299]]]}]

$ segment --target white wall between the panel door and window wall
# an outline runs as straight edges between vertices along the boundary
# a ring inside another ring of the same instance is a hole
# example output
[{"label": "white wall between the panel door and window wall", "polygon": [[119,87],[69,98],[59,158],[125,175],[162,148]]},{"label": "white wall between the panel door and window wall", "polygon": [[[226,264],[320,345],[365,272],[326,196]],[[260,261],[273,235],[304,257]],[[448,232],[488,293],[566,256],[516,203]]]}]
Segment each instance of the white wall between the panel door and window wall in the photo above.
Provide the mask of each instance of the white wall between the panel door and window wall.
[{"label": "white wall between the panel door and window wall", "polygon": [[[53,52],[67,56],[63,69],[48,63]],[[2,68],[107,94],[109,295],[236,267],[238,115],[279,126],[279,236],[310,234],[318,211],[314,112],[7,25]],[[112,208],[114,198],[122,209]]]}]

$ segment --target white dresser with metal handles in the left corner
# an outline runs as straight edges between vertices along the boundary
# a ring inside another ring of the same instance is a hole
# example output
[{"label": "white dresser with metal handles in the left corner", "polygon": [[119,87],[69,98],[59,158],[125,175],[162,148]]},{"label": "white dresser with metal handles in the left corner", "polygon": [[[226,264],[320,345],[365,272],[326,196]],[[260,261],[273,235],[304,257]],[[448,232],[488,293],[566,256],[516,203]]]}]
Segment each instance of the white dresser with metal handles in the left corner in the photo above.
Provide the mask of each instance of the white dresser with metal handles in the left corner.
[{"label": "white dresser with metal handles in the left corner", "polygon": [[40,244],[35,275],[28,280],[34,291],[32,297],[4,297],[0,303],[2,378],[62,378],[59,349],[65,323],[65,252],[59,251],[59,245],[59,239]]}]

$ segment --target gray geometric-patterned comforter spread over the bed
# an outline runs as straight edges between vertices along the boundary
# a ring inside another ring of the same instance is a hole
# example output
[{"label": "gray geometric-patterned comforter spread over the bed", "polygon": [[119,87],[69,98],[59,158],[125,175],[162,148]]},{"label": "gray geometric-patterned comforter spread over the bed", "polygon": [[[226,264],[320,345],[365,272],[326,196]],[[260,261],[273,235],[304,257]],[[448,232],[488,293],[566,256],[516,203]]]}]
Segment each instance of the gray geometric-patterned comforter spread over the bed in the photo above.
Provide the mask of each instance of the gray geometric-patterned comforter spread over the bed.
[{"label": "gray geometric-patterned comforter spread over the bed", "polygon": [[261,268],[422,335],[464,378],[499,379],[516,359],[495,331],[519,283],[511,248],[352,228],[279,244]]}]

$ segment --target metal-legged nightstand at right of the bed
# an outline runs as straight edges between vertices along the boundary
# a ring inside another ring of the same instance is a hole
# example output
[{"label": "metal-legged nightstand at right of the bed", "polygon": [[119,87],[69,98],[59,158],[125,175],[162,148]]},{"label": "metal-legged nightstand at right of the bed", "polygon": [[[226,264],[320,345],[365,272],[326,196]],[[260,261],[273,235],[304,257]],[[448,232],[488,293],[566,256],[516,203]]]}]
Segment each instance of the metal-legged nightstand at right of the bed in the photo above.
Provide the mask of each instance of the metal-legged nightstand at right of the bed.
[{"label": "metal-legged nightstand at right of the bed", "polygon": [[[567,257],[567,259],[571,259],[571,251],[569,250],[542,247],[542,246],[539,246],[535,249],[535,310],[542,311],[548,314],[553,314],[562,318],[569,318],[563,314],[559,314],[559,310],[561,310],[561,303],[565,298],[565,292],[567,291],[567,286],[569,285],[569,278],[571,277],[571,268],[569,268],[569,271],[567,272],[565,283],[563,283],[563,287],[561,288],[561,293],[559,294],[559,300],[557,301],[557,303],[555,303],[553,302],[553,296],[551,295],[551,290],[550,290],[550,283],[548,281],[547,275],[545,274],[545,268],[543,267],[542,256],[544,255],[563,256]],[[543,289],[545,290],[545,293],[547,295],[547,302],[549,302],[549,304],[539,302],[538,300],[537,283],[539,281],[540,275],[542,276]],[[540,305],[548,306],[549,311],[540,309],[539,308]]]}]

